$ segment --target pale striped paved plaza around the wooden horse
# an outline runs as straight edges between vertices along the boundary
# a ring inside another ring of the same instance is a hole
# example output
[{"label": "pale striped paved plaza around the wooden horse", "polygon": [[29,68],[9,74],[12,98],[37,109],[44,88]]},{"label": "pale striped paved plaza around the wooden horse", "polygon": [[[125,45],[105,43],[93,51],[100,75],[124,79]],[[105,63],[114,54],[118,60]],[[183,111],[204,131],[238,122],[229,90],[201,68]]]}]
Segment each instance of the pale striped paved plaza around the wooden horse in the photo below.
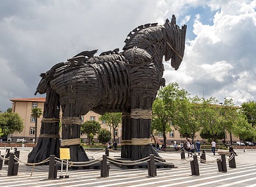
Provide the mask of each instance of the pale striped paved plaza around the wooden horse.
[{"label": "pale striped paved plaza around the wooden horse", "polygon": [[[191,176],[189,159],[180,159],[180,153],[159,153],[166,162],[174,163],[175,168],[157,168],[157,176],[149,177],[147,168],[123,169],[110,164],[109,177],[100,177],[100,170],[68,170],[69,178],[48,180],[48,166],[36,166],[31,176],[32,168],[27,166],[28,150],[20,150],[20,165],[17,176],[7,176],[8,166],[0,170],[1,186],[256,186],[256,151],[237,150],[236,168],[227,172],[218,172],[216,159],[210,151],[206,154],[207,163],[199,163],[200,176]],[[1,154],[6,149],[0,147]],[[102,151],[86,152],[90,158],[100,158]],[[120,151],[109,152],[109,156],[117,158]],[[24,163],[21,163],[24,162]],[[60,171],[58,171],[60,176]]]}]

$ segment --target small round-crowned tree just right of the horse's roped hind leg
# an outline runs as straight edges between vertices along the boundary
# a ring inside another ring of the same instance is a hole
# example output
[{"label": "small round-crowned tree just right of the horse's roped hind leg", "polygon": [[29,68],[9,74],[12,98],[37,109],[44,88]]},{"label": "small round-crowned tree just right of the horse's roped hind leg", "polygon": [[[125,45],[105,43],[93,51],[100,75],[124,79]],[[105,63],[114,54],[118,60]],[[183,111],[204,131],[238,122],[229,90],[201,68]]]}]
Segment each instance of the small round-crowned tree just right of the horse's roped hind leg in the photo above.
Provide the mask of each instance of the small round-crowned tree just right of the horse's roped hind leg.
[{"label": "small round-crowned tree just right of the horse's roped hind leg", "polygon": [[87,135],[89,145],[91,144],[92,139],[91,134],[94,137],[94,135],[99,133],[100,129],[100,123],[97,121],[84,121],[84,123],[81,124],[81,133]]}]

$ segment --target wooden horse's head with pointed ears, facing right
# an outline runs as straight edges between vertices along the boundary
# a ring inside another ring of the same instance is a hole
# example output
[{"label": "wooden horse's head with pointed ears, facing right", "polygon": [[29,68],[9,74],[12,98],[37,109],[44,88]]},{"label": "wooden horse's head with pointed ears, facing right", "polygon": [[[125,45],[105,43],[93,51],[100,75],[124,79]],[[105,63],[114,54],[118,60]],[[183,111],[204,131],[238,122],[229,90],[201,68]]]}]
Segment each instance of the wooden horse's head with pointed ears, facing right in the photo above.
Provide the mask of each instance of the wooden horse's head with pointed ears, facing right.
[{"label": "wooden horse's head with pointed ears, facing right", "polygon": [[180,29],[180,27],[176,25],[176,19],[173,15],[171,22],[166,19],[164,27],[166,30],[166,52],[164,54],[164,60],[169,61],[172,59],[172,67],[178,70],[184,56],[187,26],[184,25],[182,29]]}]

